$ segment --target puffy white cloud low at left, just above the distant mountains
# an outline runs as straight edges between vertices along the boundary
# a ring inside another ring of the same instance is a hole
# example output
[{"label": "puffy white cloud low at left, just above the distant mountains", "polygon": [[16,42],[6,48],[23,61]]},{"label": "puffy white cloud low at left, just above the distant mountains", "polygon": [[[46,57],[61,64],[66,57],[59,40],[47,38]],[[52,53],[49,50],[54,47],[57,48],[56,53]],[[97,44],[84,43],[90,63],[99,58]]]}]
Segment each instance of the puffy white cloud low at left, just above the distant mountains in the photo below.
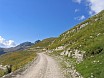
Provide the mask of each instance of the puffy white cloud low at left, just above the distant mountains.
[{"label": "puffy white cloud low at left, just above the distant mountains", "polygon": [[9,48],[14,46],[16,46],[16,44],[13,40],[5,40],[3,37],[0,36],[0,47]]}]

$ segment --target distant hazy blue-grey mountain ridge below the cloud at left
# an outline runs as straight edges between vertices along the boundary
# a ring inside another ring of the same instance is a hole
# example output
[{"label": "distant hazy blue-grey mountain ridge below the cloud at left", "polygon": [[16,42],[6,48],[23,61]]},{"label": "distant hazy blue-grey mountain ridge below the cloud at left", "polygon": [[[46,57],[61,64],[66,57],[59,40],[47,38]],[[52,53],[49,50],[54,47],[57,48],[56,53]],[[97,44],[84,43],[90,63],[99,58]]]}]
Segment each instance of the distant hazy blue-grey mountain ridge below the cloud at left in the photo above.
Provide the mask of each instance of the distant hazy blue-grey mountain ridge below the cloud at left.
[{"label": "distant hazy blue-grey mountain ridge below the cloud at left", "polygon": [[14,52],[14,51],[18,51],[18,50],[24,50],[32,45],[34,45],[34,44],[31,42],[24,42],[24,43],[21,43],[20,45],[17,45],[16,47],[0,48],[0,54],[4,54],[6,52]]}]

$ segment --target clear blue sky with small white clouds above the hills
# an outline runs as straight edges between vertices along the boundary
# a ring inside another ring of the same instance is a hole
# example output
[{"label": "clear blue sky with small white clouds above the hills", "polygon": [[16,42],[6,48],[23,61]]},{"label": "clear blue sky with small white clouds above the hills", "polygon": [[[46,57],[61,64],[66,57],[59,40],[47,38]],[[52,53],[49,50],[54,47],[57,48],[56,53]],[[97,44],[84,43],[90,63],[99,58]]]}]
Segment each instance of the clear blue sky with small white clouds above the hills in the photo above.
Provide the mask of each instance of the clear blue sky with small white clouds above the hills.
[{"label": "clear blue sky with small white clouds above the hills", "polygon": [[95,10],[91,1],[0,0],[0,46],[57,37],[104,9]]}]

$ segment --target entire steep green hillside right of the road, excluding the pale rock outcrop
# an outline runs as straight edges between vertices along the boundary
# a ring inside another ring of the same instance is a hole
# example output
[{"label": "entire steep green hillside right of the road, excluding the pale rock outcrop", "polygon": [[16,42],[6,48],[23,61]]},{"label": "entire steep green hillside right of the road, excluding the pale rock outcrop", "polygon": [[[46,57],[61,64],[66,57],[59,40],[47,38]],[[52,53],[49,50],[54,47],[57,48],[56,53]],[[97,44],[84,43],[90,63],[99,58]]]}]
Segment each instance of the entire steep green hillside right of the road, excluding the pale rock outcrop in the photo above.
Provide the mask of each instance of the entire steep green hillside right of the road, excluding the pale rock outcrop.
[{"label": "entire steep green hillside right of the road, excluding the pale rock outcrop", "polygon": [[[83,62],[75,64],[77,71],[84,78],[103,78],[104,10],[61,34],[49,49],[54,50],[59,46],[64,46],[64,51],[69,49],[73,54],[75,54],[74,50],[85,52]],[[60,53],[54,51],[53,54]],[[71,58],[67,57],[68,59]]]}]

